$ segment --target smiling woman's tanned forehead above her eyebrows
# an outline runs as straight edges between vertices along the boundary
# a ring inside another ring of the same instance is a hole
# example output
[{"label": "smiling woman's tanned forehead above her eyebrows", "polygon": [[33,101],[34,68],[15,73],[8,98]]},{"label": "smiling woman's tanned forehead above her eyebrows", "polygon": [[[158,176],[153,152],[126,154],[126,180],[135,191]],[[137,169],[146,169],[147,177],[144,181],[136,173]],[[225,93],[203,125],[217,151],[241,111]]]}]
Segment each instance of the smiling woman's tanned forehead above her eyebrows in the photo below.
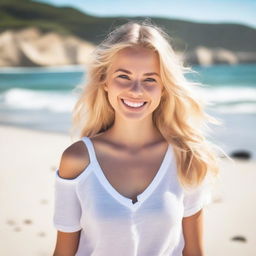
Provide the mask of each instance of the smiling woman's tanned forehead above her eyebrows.
[{"label": "smiling woman's tanned forehead above her eyebrows", "polygon": [[158,71],[158,54],[145,47],[127,47],[120,50],[112,59],[112,69],[127,68],[145,71]]}]

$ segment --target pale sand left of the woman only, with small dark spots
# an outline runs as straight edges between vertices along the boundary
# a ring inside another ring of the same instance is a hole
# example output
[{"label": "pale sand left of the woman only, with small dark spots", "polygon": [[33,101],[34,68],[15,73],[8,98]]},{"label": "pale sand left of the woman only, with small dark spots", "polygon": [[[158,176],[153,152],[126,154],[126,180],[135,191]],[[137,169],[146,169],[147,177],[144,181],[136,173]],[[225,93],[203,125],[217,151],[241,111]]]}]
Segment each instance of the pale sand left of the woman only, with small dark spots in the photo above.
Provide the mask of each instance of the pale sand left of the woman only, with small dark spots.
[{"label": "pale sand left of the woman only, with small dark spots", "polygon": [[0,255],[52,255],[54,170],[68,136],[0,126]]}]

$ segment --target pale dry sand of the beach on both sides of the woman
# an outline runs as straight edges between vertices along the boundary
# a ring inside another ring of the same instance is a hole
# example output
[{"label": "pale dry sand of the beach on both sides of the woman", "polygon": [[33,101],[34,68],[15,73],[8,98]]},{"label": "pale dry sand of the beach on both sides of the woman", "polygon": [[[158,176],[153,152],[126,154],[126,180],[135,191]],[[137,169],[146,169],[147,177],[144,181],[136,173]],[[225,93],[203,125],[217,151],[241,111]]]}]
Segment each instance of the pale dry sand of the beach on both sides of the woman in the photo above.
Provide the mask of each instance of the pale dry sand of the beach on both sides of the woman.
[{"label": "pale dry sand of the beach on both sides of the woman", "polygon": [[[52,255],[54,171],[68,135],[0,126],[0,255]],[[221,160],[213,202],[205,207],[206,256],[256,255],[256,163]]]}]

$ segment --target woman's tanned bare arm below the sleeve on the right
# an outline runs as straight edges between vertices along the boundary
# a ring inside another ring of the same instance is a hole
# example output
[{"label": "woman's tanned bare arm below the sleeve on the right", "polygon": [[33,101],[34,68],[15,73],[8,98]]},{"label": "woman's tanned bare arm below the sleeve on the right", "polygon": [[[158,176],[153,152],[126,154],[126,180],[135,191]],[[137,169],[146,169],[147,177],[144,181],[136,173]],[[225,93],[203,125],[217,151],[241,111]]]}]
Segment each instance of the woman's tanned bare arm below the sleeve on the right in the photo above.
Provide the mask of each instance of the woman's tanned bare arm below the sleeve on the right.
[{"label": "woman's tanned bare arm below the sleeve on the right", "polygon": [[183,256],[204,256],[203,248],[203,210],[196,214],[184,217],[182,228],[185,246]]}]

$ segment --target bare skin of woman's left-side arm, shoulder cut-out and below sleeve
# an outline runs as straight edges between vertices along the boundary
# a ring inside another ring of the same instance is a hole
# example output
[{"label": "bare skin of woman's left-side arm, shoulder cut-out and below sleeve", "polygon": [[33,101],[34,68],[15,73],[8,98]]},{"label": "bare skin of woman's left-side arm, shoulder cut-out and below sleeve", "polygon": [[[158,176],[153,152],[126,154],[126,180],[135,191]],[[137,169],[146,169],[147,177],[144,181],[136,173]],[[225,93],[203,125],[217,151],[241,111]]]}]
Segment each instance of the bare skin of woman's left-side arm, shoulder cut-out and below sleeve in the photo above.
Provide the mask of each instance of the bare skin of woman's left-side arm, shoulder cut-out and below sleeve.
[{"label": "bare skin of woman's left-side arm, shoulder cut-out and below sleeve", "polygon": [[[89,164],[89,155],[83,142],[76,142],[62,154],[59,176],[63,179],[74,179]],[[79,245],[81,230],[62,232],[57,230],[56,245],[53,256],[75,256]]]}]

